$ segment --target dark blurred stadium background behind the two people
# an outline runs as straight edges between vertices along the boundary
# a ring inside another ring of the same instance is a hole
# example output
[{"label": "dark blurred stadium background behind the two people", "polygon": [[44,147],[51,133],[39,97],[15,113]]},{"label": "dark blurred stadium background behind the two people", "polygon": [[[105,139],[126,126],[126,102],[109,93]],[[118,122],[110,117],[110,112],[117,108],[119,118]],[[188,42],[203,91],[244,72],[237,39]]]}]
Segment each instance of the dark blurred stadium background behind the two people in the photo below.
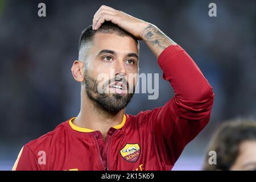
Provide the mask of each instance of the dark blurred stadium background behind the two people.
[{"label": "dark blurred stadium background behind the two people", "polygon": [[[39,18],[38,3],[47,16]],[[208,5],[217,4],[217,17]],[[226,119],[256,115],[256,1],[7,1],[0,0],[0,169],[20,148],[78,114],[80,84],[71,65],[80,32],[101,5],[158,26],[199,65],[216,94],[209,125],[185,148],[174,170],[200,170],[213,131]],[[141,73],[160,73],[141,43]],[[191,83],[193,84],[193,83]],[[160,79],[158,100],[135,94],[126,113],[162,106],[172,96]]]}]

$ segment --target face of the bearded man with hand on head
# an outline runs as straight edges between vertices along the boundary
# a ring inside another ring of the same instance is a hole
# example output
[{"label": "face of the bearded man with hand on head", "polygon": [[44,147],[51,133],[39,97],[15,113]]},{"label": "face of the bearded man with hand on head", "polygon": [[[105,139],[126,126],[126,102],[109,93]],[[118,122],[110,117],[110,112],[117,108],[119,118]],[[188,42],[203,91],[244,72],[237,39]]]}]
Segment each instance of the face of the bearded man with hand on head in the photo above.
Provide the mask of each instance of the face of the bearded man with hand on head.
[{"label": "face of the bearded man with hand on head", "polygon": [[138,47],[130,36],[96,33],[85,68],[85,90],[110,113],[124,109],[133,97],[138,73]]}]

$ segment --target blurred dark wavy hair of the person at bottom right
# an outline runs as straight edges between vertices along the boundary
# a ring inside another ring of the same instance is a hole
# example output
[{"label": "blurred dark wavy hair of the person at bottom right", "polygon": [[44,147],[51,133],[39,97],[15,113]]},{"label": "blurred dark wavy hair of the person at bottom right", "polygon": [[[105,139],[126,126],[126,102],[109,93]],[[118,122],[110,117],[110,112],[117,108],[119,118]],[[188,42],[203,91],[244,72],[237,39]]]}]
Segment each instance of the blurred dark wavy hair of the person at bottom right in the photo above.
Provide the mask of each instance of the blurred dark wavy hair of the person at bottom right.
[{"label": "blurred dark wavy hair of the person at bottom right", "polygon": [[[246,140],[256,140],[256,122],[238,119],[223,123],[209,144],[203,170],[230,170],[239,155],[240,144]],[[209,164],[209,151],[216,152],[217,164]]]}]

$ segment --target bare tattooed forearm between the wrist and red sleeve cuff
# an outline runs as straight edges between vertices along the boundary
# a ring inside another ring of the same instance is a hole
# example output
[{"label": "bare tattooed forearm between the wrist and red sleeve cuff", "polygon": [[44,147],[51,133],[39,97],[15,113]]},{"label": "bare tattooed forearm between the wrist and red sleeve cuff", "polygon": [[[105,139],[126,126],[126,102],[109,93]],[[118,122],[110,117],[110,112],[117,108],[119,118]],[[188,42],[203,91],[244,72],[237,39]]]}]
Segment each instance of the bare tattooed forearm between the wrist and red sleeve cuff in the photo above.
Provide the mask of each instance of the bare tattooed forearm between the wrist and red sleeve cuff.
[{"label": "bare tattooed forearm between the wrist and red sleeve cuff", "polygon": [[156,58],[158,58],[160,53],[162,53],[168,46],[177,45],[153,24],[149,23],[145,26],[146,28],[144,28],[141,38],[146,42]]}]

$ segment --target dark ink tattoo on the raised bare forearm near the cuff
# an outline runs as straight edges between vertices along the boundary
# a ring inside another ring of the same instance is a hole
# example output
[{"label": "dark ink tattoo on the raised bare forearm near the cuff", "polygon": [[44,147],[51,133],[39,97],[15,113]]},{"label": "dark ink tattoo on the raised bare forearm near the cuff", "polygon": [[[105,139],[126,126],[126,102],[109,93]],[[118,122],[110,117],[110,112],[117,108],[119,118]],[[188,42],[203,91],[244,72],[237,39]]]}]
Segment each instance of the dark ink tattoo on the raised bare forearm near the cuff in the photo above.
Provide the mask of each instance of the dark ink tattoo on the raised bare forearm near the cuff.
[{"label": "dark ink tattoo on the raised bare forearm near the cuff", "polygon": [[161,49],[166,49],[168,46],[176,45],[176,43],[168,38],[162,31],[152,24],[149,24],[143,31],[143,40],[148,41],[152,46],[158,46]]}]

